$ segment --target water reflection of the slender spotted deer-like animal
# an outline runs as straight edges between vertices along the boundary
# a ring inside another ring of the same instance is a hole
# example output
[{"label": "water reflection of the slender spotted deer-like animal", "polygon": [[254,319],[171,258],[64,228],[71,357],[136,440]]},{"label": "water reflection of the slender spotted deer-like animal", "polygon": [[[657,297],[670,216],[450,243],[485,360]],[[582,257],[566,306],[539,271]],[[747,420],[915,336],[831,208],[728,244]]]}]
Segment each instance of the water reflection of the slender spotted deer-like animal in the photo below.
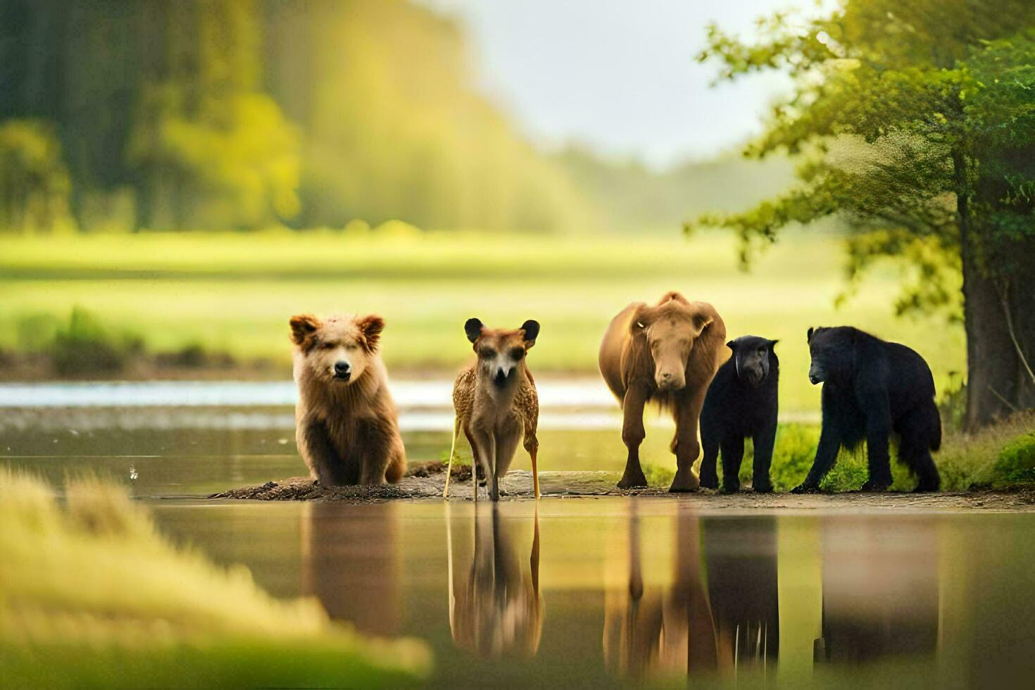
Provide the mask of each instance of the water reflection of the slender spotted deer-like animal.
[{"label": "water reflection of the slender spotted deer-like animal", "polygon": [[[460,534],[453,534],[448,506],[446,511],[449,628],[453,641],[479,657],[534,657],[539,650],[543,618],[538,512],[531,556],[524,561],[526,551],[519,551],[519,544],[527,541],[519,533],[527,524],[525,520],[502,518],[498,504],[478,507],[474,553],[465,558],[461,554],[470,551],[460,545]],[[468,563],[470,566],[465,567]],[[525,563],[529,564],[527,568]]]}]

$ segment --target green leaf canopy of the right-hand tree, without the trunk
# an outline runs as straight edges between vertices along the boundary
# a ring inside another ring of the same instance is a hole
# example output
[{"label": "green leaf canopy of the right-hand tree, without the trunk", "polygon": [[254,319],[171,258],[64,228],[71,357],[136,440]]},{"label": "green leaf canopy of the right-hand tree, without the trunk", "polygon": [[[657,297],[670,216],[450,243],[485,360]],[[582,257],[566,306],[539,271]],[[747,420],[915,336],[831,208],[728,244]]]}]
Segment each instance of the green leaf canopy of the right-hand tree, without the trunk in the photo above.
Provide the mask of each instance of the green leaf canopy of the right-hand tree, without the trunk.
[{"label": "green leaf canopy of the right-hand tree, without the trunk", "polygon": [[[711,27],[700,58],[717,60],[721,78],[780,68],[798,80],[746,153],[786,149],[805,162],[795,190],[745,213],[709,214],[690,224],[735,230],[749,258],[748,249],[791,222],[837,214],[853,230],[850,277],[879,257],[904,258],[916,273],[896,311],[945,307],[958,314],[956,193],[1003,210],[1026,199],[1035,179],[1027,167],[1007,162],[1010,151],[1031,146],[1035,132],[1024,81],[1035,43],[1016,34],[1033,25],[1035,10],[1025,2],[903,7],[847,0],[831,16],[807,22],[774,16],[761,23],[763,37],[751,46]],[[1003,188],[981,193],[992,180]],[[980,240],[990,248],[1002,233],[984,230],[998,221],[978,211]]]}]

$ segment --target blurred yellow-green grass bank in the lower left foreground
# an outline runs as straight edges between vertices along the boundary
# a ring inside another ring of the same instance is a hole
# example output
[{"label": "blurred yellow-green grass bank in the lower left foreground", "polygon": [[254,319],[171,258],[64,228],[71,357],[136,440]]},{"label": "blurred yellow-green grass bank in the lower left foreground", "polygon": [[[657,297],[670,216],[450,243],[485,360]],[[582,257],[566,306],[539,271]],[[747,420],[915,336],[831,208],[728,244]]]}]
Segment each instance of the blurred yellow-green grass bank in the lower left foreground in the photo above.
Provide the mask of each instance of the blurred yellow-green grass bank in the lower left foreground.
[{"label": "blurred yellow-green grass bank in the lower left foreground", "polygon": [[421,642],[364,639],[174,546],[102,481],[71,480],[59,502],[4,469],[0,521],[6,687],[397,687],[430,669]]}]

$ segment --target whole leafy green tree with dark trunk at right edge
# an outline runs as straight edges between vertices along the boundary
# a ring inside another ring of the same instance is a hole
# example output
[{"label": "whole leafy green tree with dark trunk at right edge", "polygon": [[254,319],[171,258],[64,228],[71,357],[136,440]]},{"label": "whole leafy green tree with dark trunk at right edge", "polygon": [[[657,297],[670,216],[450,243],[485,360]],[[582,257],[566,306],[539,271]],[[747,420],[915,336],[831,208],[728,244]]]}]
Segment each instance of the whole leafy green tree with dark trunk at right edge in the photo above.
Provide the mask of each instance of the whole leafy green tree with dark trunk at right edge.
[{"label": "whole leafy green tree with dark trunk at right edge", "polygon": [[699,56],[720,79],[791,74],[745,155],[804,162],[791,191],[688,228],[735,231],[748,261],[787,224],[836,215],[850,275],[911,261],[899,312],[962,301],[969,428],[1035,407],[1033,29],[1028,0],[841,0],[818,19],[762,19],[751,43],[713,25]]}]

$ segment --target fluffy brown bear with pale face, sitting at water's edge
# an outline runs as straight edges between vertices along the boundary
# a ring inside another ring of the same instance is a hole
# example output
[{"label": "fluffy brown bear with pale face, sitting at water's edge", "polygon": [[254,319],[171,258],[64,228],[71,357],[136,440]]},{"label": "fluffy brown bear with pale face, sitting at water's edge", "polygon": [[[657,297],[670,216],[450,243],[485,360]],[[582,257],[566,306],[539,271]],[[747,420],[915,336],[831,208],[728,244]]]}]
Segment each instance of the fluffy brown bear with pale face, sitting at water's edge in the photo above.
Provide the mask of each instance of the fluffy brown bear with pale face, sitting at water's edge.
[{"label": "fluffy brown bear with pale face, sitting at water's edge", "polygon": [[295,439],[321,485],[394,483],[406,470],[398,413],[378,355],[384,325],[375,316],[291,318]]}]

